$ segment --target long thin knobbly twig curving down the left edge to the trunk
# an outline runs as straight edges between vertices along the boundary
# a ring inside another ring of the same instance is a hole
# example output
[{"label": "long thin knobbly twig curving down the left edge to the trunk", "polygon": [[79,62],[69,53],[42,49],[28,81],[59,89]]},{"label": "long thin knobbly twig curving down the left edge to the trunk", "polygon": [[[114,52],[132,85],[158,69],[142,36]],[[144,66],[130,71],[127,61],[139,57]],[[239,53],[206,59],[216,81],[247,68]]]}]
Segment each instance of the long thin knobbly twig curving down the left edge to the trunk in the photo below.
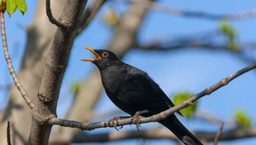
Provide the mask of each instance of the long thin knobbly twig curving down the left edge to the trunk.
[{"label": "long thin knobbly twig curving down the left edge to the trunk", "polygon": [[20,80],[18,79],[18,77],[17,77],[17,75],[15,73],[15,69],[14,69],[14,67],[12,65],[12,61],[10,59],[9,50],[8,50],[8,46],[7,46],[7,38],[6,38],[6,32],[5,32],[5,23],[4,23],[3,12],[0,12],[0,15],[1,15],[3,52],[4,52],[5,61],[6,61],[7,65],[8,65],[9,73],[12,76],[12,78],[13,78],[13,80],[15,82],[15,85],[16,85],[17,89],[20,91],[20,94],[24,98],[26,104],[32,109],[34,107],[34,104],[32,103],[32,100],[27,95],[26,90],[24,89],[22,84],[20,84]]}]

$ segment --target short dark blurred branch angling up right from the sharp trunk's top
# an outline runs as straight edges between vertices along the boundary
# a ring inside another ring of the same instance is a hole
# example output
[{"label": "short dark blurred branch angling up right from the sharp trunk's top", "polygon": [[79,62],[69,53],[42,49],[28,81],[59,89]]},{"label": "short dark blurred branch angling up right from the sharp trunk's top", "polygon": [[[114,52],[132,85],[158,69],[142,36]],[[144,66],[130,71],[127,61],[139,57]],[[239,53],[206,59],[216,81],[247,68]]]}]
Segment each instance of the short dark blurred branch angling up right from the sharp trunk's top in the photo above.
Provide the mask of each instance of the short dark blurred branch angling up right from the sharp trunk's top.
[{"label": "short dark blurred branch angling up right from the sharp trunk's top", "polygon": [[105,2],[106,0],[96,0],[90,4],[89,8],[86,9],[83,15],[81,22],[79,23],[76,35],[79,35],[79,33],[83,32],[83,30],[90,24],[90,21],[95,17],[96,13]]}]

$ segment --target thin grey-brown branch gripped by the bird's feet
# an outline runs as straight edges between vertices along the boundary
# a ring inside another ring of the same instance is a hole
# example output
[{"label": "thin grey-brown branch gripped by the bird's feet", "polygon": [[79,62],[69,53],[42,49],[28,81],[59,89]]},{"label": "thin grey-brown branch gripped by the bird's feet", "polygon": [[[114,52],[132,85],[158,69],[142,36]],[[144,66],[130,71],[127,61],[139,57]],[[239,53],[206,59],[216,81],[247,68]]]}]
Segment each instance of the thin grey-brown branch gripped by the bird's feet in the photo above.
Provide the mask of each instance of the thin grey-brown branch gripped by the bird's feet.
[{"label": "thin grey-brown branch gripped by the bird's feet", "polygon": [[[199,94],[192,96],[188,100],[178,104],[175,107],[171,107],[170,109],[168,109],[164,112],[155,114],[148,118],[138,119],[138,123],[142,124],[142,123],[148,123],[148,122],[155,122],[160,119],[166,119],[166,117],[170,116],[172,113],[175,113],[178,110],[183,109],[184,107],[189,107],[196,100],[200,99],[203,96],[210,95],[213,91],[218,90],[219,88],[223,87],[226,84],[229,84],[230,81],[232,81],[233,79],[241,76],[243,73],[247,73],[247,72],[253,70],[254,68],[256,68],[256,62],[254,62],[252,65],[242,68],[241,70],[239,70],[236,73],[231,74],[227,78],[223,78],[218,83],[213,84],[212,86],[208,87],[207,89],[201,91]],[[133,123],[132,123],[131,118],[120,119],[119,125],[113,125],[113,123],[109,122],[109,121],[102,121],[102,122],[96,122],[96,123],[81,123],[78,121],[71,121],[71,120],[67,120],[67,119],[57,119],[57,118],[53,117],[52,119],[49,119],[48,124],[49,125],[61,125],[61,126],[65,126],[65,127],[74,127],[74,128],[79,128],[81,130],[94,130],[96,128],[131,125]]]}]

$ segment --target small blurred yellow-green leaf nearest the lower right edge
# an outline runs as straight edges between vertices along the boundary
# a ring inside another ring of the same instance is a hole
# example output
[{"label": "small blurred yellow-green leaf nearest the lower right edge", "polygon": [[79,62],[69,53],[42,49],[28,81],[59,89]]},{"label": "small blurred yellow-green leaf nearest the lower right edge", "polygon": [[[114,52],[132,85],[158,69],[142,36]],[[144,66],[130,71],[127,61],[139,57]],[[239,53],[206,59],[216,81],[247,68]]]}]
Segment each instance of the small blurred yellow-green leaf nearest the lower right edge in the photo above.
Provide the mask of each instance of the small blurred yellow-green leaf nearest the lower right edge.
[{"label": "small blurred yellow-green leaf nearest the lower right edge", "polygon": [[247,128],[251,126],[251,118],[242,110],[236,111],[236,123],[241,127]]}]

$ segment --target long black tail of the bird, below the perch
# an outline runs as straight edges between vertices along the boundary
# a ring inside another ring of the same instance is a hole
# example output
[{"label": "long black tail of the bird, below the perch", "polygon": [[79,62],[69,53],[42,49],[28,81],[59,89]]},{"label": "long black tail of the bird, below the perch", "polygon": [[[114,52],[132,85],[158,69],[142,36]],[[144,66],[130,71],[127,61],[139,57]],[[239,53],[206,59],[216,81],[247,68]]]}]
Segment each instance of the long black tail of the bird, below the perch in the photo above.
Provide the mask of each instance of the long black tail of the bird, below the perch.
[{"label": "long black tail of the bird, below the perch", "polygon": [[185,145],[203,145],[185,126],[183,126],[175,115],[162,119],[159,121],[159,123],[172,131],[172,133]]}]

